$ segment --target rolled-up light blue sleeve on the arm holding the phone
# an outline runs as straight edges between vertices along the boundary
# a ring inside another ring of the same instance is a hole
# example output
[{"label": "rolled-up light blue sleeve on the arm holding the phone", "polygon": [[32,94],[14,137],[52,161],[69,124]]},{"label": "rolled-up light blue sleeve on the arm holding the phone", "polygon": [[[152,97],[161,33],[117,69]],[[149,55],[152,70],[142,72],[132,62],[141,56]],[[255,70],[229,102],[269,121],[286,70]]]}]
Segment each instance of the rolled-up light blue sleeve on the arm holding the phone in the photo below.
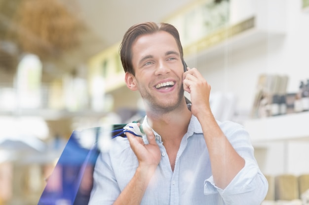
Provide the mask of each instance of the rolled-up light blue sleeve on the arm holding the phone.
[{"label": "rolled-up light blue sleeve on the arm holding the phone", "polygon": [[[233,124],[235,126],[236,123]],[[260,205],[267,194],[268,182],[254,158],[249,134],[240,125],[236,125],[236,129],[224,127],[223,132],[245,160],[245,166],[225,189],[217,187],[213,176],[210,176],[204,182],[204,194],[219,193],[226,205]]]}]

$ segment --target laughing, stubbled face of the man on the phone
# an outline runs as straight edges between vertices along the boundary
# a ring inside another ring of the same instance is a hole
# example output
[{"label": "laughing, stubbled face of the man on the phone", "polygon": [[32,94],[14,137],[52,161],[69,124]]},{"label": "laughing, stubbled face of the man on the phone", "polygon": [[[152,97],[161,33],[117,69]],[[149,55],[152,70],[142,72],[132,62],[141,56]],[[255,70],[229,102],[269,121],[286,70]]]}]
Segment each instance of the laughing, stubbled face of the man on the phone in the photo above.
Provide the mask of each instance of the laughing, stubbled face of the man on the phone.
[{"label": "laughing, stubbled face of the man on the phone", "polygon": [[[146,106],[165,112],[177,108],[183,98],[183,63],[174,37],[165,31],[138,37],[132,44],[131,76]],[[127,81],[127,77],[126,77]]]}]

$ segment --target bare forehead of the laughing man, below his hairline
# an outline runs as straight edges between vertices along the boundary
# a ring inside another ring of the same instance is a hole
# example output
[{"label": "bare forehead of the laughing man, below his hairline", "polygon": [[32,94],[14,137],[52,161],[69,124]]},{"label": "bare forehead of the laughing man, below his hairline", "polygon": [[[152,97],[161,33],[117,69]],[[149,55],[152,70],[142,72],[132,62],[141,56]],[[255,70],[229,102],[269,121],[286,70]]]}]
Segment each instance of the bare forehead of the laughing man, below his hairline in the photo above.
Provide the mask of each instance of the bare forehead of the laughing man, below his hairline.
[{"label": "bare forehead of the laughing man, below his hairline", "polygon": [[141,35],[132,44],[133,58],[140,55],[154,55],[160,51],[176,51],[179,53],[174,36],[166,31]]}]

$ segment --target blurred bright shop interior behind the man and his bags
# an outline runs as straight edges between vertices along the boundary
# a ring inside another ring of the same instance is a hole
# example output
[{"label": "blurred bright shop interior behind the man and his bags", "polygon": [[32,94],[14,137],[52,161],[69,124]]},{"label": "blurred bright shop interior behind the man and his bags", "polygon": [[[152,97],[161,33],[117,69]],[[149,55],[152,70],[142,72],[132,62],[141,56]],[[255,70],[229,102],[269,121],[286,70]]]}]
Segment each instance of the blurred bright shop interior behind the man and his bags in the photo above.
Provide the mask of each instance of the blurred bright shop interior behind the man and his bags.
[{"label": "blurred bright shop interior behind the man and his bags", "polygon": [[267,200],[304,199],[309,0],[0,0],[0,205],[38,203],[74,130],[144,115],[118,55],[144,21],[177,27],[215,117],[249,131]]}]

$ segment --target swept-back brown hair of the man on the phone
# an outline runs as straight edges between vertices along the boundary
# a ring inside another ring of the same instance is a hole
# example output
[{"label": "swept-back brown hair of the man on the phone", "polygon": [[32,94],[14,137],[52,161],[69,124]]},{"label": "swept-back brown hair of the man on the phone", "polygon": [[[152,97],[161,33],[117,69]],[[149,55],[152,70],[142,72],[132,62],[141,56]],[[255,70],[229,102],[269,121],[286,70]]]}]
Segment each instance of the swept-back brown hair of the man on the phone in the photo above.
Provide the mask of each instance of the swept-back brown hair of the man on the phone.
[{"label": "swept-back brown hair of the man on the phone", "polygon": [[180,42],[178,30],[165,23],[156,24],[154,22],[145,22],[141,24],[136,24],[129,28],[123,36],[122,42],[120,44],[120,59],[124,72],[129,72],[135,75],[135,71],[132,65],[132,44],[140,35],[151,34],[158,31],[166,31],[170,33],[176,40],[180,57],[183,60],[183,48]]}]

